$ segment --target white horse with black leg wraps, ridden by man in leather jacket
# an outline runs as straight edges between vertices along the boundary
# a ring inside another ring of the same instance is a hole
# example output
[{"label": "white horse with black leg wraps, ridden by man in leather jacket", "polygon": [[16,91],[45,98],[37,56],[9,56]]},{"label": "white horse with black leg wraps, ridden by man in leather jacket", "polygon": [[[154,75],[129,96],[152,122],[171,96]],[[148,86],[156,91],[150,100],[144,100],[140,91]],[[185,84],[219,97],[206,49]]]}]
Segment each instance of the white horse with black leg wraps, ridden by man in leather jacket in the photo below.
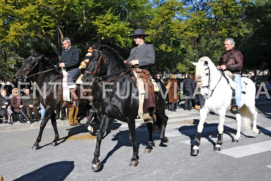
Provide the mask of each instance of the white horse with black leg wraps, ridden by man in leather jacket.
[{"label": "white horse with black leg wraps, ridden by man in leather jacket", "polygon": [[[193,62],[192,62],[193,63]],[[219,116],[218,140],[214,151],[220,151],[223,143],[223,125],[226,115],[226,110],[229,110],[232,99],[232,89],[228,84],[226,78],[221,76],[216,66],[208,57],[202,57],[196,65],[195,80],[199,80],[202,83],[201,94],[199,94],[199,100],[201,103],[200,108],[200,121],[198,124],[198,132],[195,138],[195,144],[191,154],[197,155],[199,153],[198,146],[200,145],[201,132],[203,124],[205,122],[207,113],[212,111]],[[198,79],[199,78],[199,79]],[[241,95],[241,107],[239,109],[240,114],[235,114],[237,121],[237,133],[233,139],[233,143],[238,143],[241,136],[241,122],[245,130],[251,129],[251,121],[253,120],[252,131],[256,134],[260,134],[261,131],[256,127],[257,120],[257,108],[255,107],[255,85],[253,81],[248,78],[241,78],[242,82],[242,95]]]}]

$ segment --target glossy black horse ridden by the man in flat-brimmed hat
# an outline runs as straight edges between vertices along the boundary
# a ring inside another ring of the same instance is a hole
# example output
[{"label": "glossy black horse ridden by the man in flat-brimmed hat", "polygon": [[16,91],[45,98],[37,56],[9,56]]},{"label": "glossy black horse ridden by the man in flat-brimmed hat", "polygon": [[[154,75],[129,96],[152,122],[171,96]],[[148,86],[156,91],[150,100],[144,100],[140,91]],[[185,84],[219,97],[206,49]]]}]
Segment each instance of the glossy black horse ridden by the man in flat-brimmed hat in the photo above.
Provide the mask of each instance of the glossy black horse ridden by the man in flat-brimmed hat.
[{"label": "glossy black horse ridden by the man in flat-brimmed hat", "polygon": [[[129,137],[133,147],[133,157],[130,162],[131,167],[138,165],[136,148],[136,130],[135,118],[138,115],[139,100],[138,88],[129,74],[125,74],[126,66],[119,57],[108,49],[101,47],[101,41],[93,45],[92,56],[89,56],[89,64],[83,77],[84,86],[90,86],[97,76],[104,76],[102,83],[103,92],[101,96],[101,110],[104,113],[101,119],[101,127],[97,134],[97,143],[92,161],[92,170],[98,170],[100,167],[100,146],[101,139],[105,130],[113,122],[114,119],[127,122],[129,127]],[[88,74],[87,74],[88,73]],[[94,74],[94,76],[92,75]],[[113,80],[114,79],[114,80]],[[161,92],[165,95],[166,88],[162,82],[155,79],[160,84]],[[146,123],[149,132],[148,146],[145,148],[145,153],[150,153],[152,149],[152,132],[153,129],[160,130],[160,139],[163,142],[168,142],[165,137],[165,129],[167,126],[168,117],[165,115],[165,96],[161,92],[155,92],[156,102],[156,121],[154,123]]]}]

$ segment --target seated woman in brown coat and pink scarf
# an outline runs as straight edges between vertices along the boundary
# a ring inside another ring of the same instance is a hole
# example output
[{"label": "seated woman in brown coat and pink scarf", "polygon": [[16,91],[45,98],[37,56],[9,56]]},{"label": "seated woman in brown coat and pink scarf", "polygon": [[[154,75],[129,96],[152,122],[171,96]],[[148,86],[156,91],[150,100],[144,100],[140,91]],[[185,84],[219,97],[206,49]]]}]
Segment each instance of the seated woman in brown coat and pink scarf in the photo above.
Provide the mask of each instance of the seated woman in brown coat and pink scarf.
[{"label": "seated woman in brown coat and pink scarf", "polygon": [[20,118],[18,119],[20,123],[26,123],[26,121],[23,120],[24,115],[26,115],[26,110],[22,104],[22,100],[20,98],[20,95],[18,93],[18,88],[12,89],[12,95],[11,95],[11,106],[14,108],[14,111],[16,113],[21,113]]}]

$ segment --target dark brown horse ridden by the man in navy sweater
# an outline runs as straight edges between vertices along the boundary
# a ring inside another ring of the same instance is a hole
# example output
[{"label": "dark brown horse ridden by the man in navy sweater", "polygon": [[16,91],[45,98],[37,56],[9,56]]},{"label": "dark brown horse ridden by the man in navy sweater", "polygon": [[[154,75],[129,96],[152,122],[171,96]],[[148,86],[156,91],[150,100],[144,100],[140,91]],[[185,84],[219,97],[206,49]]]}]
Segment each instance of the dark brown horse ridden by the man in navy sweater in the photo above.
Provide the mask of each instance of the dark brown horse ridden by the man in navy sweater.
[{"label": "dark brown horse ridden by the man in navy sweater", "polygon": [[[32,150],[37,150],[39,148],[39,142],[42,138],[42,132],[45,128],[49,119],[51,119],[52,126],[55,131],[55,139],[51,143],[51,146],[56,146],[59,139],[58,129],[55,119],[55,110],[60,108],[63,104],[63,86],[62,78],[63,75],[57,73],[54,69],[55,66],[50,62],[49,59],[43,57],[38,53],[32,51],[32,55],[25,60],[23,66],[16,72],[15,76],[18,80],[21,80],[27,75],[36,75],[36,84],[40,88],[41,92],[39,94],[39,100],[41,104],[45,107],[44,119],[40,125],[39,136],[32,147]],[[50,70],[52,69],[52,70]],[[49,70],[49,71],[48,71]],[[77,94],[80,101],[80,104],[85,110],[88,110],[90,113],[94,113],[93,108],[95,109],[99,119],[101,119],[101,103],[97,100],[99,94],[101,94],[101,84],[94,84],[92,90],[89,87],[77,86]],[[84,96],[81,98],[81,96]],[[92,103],[90,106],[89,103]],[[67,102],[64,108],[70,108],[71,103]],[[90,116],[88,123],[90,122]]]}]

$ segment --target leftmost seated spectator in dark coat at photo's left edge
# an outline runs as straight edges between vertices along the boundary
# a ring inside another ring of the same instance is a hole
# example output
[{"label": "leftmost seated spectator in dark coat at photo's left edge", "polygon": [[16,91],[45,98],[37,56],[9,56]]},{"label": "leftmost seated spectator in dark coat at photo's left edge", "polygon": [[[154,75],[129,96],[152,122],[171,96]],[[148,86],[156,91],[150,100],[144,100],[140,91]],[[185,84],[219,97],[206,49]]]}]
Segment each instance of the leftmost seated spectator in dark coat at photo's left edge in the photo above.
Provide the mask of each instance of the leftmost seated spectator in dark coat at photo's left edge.
[{"label": "leftmost seated spectator in dark coat at photo's left edge", "polygon": [[7,96],[7,90],[1,89],[0,96],[0,115],[3,116],[3,122],[11,124],[11,100]]}]

